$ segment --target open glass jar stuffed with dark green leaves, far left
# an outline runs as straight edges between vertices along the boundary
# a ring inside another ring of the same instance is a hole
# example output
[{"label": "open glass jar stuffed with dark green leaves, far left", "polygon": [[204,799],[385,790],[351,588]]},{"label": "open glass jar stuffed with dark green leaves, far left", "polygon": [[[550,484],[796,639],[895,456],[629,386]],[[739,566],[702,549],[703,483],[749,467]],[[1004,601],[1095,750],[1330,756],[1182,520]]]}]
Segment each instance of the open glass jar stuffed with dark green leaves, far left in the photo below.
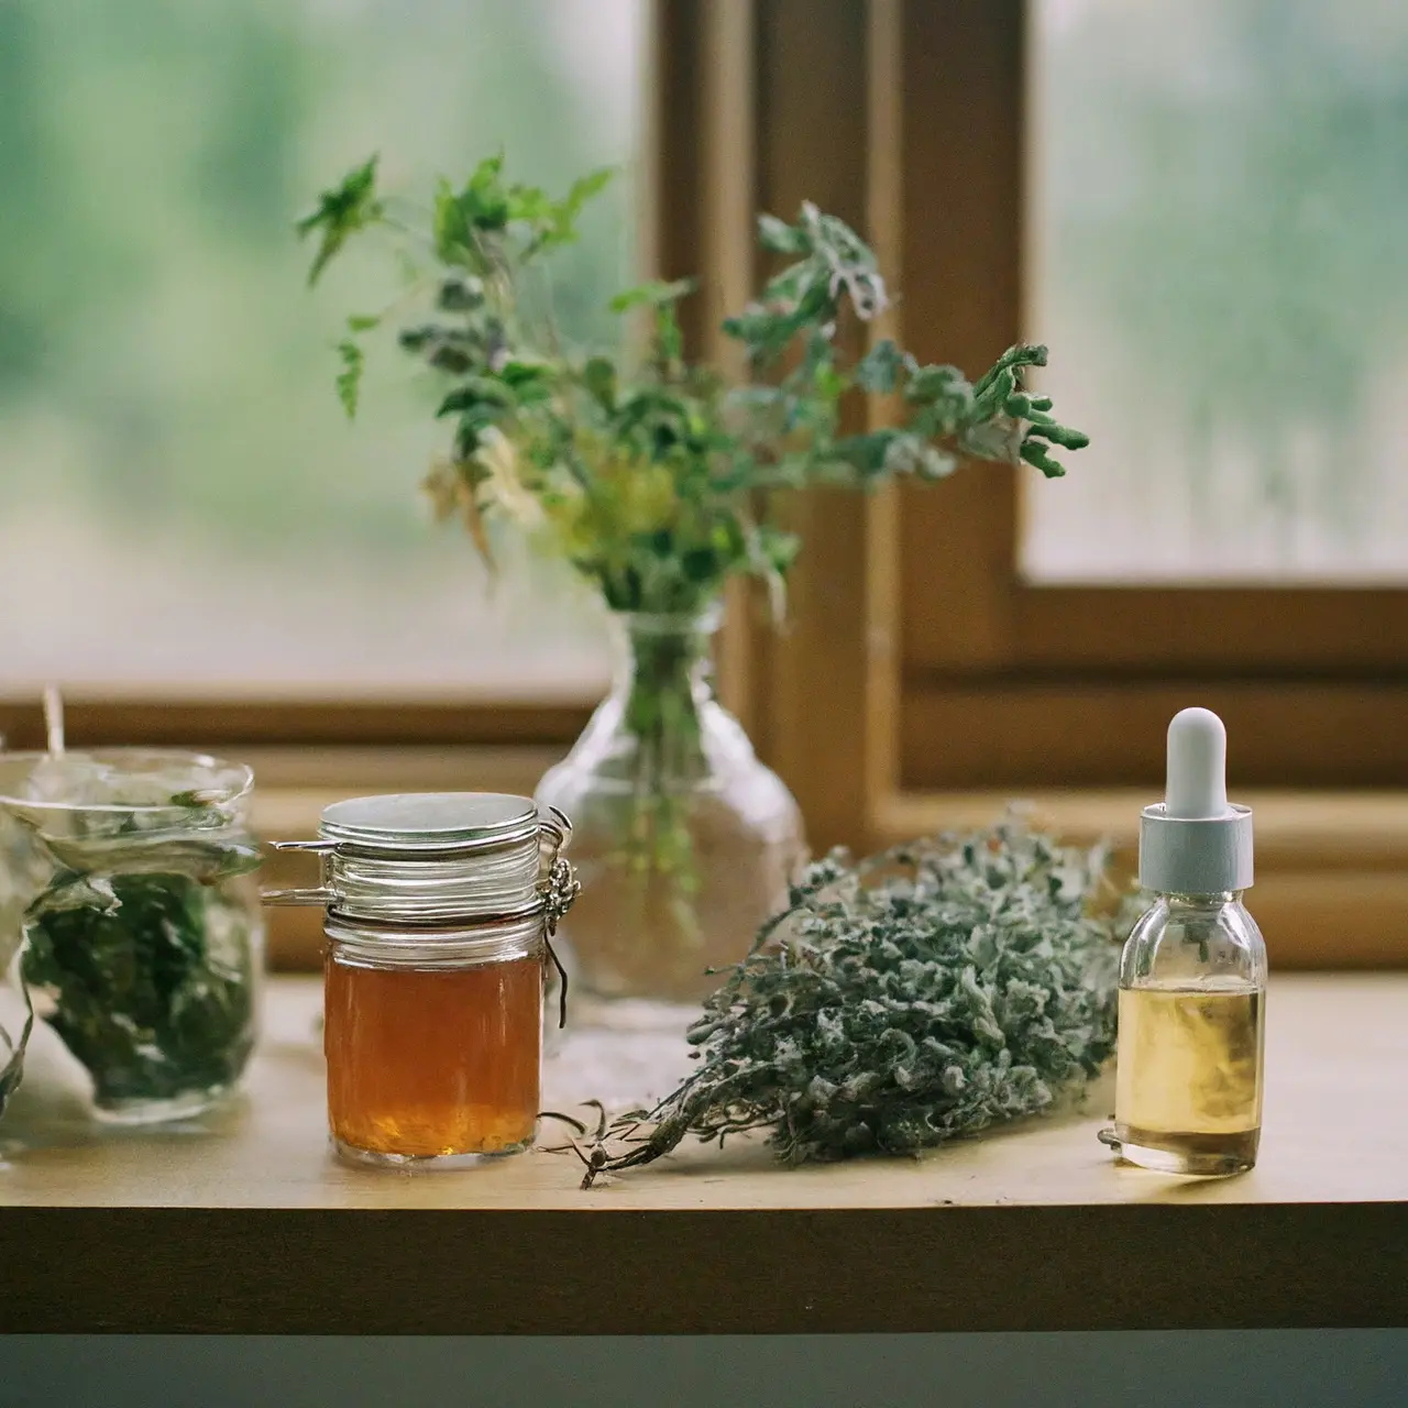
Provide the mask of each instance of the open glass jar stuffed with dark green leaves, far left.
[{"label": "open glass jar stuffed with dark green leaves, far left", "polygon": [[100,1119],[187,1118],[245,1070],[263,964],[252,787],[248,767],[163,749],[0,755],[0,953],[20,941],[25,993]]}]

